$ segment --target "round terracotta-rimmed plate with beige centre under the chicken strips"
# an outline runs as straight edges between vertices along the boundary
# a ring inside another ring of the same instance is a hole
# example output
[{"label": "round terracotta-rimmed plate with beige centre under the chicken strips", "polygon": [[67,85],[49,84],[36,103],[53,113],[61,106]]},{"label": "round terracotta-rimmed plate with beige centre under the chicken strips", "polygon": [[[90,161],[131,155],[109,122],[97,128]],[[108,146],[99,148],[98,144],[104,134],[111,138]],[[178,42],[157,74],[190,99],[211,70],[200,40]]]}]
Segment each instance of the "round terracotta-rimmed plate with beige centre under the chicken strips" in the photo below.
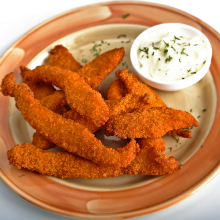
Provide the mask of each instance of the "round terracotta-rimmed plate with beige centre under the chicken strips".
[{"label": "round terracotta-rimmed plate with beige centre under the chicken strips", "polygon": [[[123,19],[122,15],[128,13],[130,16]],[[9,102],[8,97],[0,95],[0,177],[12,191],[30,203],[60,215],[83,219],[124,219],[156,212],[180,202],[218,174],[219,34],[185,12],[129,1],[97,4],[64,13],[28,32],[5,53],[0,60],[0,80],[12,71],[19,80],[20,65],[34,68],[46,62],[48,51],[57,43],[67,46],[80,62],[93,59],[89,50],[94,45],[93,41],[110,43],[103,45],[103,52],[115,46],[125,46],[128,56],[132,40],[142,30],[163,22],[184,23],[198,28],[209,38],[213,48],[210,72],[203,80],[180,92],[159,92],[170,107],[186,111],[192,109],[195,117],[200,116],[200,127],[193,130],[192,140],[181,139],[178,143],[170,138],[165,140],[167,148],[172,147],[172,151],[167,150],[167,155],[175,155],[184,168],[166,177],[137,176],[94,181],[62,180],[17,170],[8,164],[6,152],[14,144],[30,141],[32,131],[14,108],[13,101]],[[120,34],[126,34],[126,38],[117,38]],[[118,68],[126,65],[130,68],[127,56]],[[114,74],[103,82],[100,88],[103,93],[112,80]]]}]

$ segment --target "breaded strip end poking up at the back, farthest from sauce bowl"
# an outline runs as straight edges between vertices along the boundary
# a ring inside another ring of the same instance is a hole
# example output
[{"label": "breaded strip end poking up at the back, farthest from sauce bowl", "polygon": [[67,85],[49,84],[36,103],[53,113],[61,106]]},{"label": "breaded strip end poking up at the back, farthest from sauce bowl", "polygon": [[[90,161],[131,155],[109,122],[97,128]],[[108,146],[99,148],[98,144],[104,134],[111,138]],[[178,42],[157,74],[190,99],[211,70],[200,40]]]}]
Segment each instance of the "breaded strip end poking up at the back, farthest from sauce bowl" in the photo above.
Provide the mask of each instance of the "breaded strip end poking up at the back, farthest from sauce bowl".
[{"label": "breaded strip end poking up at the back, farthest from sauce bowl", "polygon": [[82,65],[75,60],[73,55],[63,45],[56,45],[50,51],[50,54],[49,63],[51,66],[68,69],[73,72],[77,72],[82,68]]}]

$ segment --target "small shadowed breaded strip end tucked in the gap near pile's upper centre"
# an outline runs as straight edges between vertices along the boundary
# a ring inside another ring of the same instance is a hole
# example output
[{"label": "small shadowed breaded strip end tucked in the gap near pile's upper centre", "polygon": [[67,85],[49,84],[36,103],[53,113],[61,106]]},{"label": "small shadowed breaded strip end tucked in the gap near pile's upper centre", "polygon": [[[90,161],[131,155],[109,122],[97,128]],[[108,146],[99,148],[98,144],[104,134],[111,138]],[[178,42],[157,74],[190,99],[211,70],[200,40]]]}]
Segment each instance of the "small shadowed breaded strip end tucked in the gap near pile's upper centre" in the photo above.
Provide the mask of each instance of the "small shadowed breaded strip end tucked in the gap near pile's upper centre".
[{"label": "small shadowed breaded strip end tucked in the gap near pile's upper centre", "polygon": [[110,88],[107,92],[107,99],[108,100],[120,99],[124,97],[127,93],[128,93],[128,90],[125,87],[125,84],[123,83],[123,81],[120,79],[116,79],[110,85]]}]

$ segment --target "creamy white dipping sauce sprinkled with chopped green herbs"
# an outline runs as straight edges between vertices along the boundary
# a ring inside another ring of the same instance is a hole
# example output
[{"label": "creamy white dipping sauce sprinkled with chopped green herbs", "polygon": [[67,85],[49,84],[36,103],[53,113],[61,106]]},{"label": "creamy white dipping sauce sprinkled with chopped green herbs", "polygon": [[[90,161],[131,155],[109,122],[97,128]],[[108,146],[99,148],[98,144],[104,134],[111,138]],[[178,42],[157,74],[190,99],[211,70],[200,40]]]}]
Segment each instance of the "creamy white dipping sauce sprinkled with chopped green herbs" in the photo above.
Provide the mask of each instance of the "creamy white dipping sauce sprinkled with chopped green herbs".
[{"label": "creamy white dipping sauce sprinkled with chopped green herbs", "polygon": [[156,31],[140,42],[138,60],[146,76],[176,81],[196,74],[205,64],[207,53],[199,36],[187,38]]}]

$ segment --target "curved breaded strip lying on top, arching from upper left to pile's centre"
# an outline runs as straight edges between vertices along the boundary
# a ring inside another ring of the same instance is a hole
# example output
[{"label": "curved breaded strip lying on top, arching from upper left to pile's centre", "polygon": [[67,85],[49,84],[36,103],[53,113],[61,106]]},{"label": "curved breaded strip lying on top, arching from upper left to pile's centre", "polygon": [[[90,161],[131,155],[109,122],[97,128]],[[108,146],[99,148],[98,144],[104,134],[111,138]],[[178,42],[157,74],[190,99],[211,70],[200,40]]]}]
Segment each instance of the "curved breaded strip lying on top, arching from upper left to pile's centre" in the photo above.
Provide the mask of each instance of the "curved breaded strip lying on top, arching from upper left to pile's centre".
[{"label": "curved breaded strip lying on top, arching from upper left to pile's centre", "polygon": [[101,94],[91,89],[77,73],[42,65],[32,70],[26,80],[49,82],[59,87],[65,92],[69,106],[97,127],[105,124],[109,118],[109,110]]}]

